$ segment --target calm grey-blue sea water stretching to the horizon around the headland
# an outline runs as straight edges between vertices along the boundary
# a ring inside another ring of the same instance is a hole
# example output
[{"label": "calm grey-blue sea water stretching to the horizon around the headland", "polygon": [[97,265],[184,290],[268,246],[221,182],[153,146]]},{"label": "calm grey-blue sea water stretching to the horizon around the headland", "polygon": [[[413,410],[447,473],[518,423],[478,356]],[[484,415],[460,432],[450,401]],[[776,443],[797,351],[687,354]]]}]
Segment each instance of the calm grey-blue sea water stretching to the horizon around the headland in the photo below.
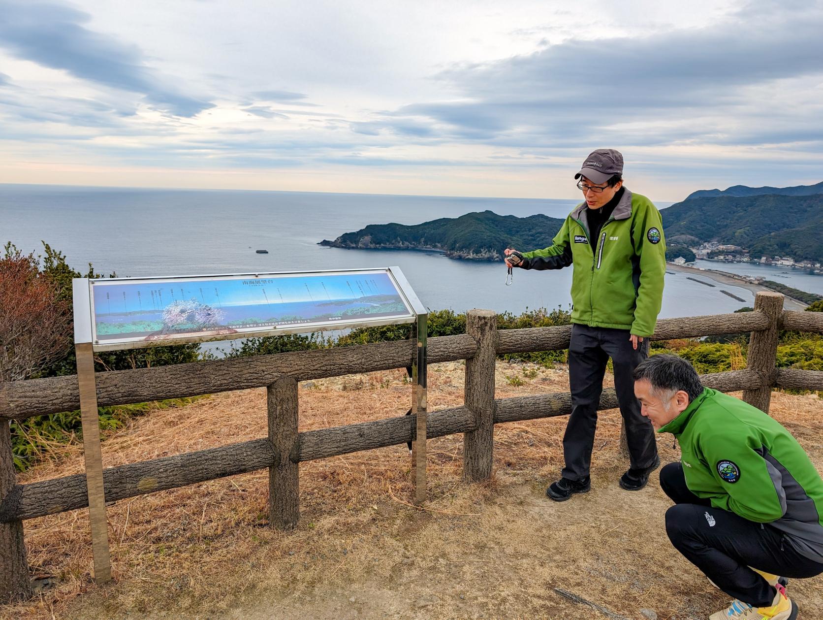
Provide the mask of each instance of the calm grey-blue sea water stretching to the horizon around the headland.
[{"label": "calm grey-blue sea water stretching to the horizon around the headland", "polygon": [[[66,254],[78,270],[91,262],[101,273],[133,277],[399,265],[421,301],[433,310],[489,308],[519,313],[527,307],[568,307],[571,269],[515,271],[514,285],[506,287],[503,263],[471,263],[431,252],[323,248],[317,243],[367,224],[418,224],[486,209],[500,215],[565,217],[575,203],[0,184],[0,243],[12,241],[28,252],[41,250],[40,240],[44,240]],[[668,205],[658,203],[658,207]],[[547,239],[546,245],[550,242]],[[256,254],[256,249],[267,249],[269,254]],[[532,248],[523,248],[527,249]],[[731,265],[709,266],[732,271]],[[748,266],[739,266],[744,267]],[[788,286],[823,292],[820,276],[758,266],[760,274]],[[721,288],[746,301],[724,295]],[[686,279],[685,274],[669,273],[661,316],[730,312],[751,305],[753,299],[744,288],[710,288]]]}]

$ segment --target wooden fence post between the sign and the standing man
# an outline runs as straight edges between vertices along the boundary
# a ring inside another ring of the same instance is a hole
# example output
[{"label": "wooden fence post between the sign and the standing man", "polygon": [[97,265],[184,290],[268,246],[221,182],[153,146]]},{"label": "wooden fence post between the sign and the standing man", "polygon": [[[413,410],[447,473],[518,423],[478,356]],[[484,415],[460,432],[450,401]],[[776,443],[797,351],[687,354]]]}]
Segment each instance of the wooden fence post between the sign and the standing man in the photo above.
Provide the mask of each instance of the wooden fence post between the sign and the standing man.
[{"label": "wooden fence post between the sign and the standing man", "polygon": [[491,478],[495,443],[495,341],[497,315],[492,310],[469,310],[466,333],[477,341],[477,353],[466,360],[466,407],[474,414],[475,430],[463,434],[463,478]]}]

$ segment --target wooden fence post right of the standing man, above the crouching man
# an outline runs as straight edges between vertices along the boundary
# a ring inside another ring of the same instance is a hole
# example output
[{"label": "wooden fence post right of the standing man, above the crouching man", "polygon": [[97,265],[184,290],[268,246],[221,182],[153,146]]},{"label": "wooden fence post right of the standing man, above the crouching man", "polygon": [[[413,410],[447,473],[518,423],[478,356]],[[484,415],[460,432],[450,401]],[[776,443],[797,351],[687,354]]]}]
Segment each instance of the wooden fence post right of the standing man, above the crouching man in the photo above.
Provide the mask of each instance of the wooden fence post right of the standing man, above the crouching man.
[{"label": "wooden fence post right of the standing man, above the crouching man", "polygon": [[757,293],[755,296],[755,310],[764,312],[769,317],[770,324],[762,331],[751,333],[749,352],[746,356],[746,368],[750,371],[756,371],[764,385],[757,389],[746,389],[743,392],[743,400],[750,405],[754,405],[760,411],[769,413],[777,361],[780,317],[783,315],[783,295],[773,292]]}]

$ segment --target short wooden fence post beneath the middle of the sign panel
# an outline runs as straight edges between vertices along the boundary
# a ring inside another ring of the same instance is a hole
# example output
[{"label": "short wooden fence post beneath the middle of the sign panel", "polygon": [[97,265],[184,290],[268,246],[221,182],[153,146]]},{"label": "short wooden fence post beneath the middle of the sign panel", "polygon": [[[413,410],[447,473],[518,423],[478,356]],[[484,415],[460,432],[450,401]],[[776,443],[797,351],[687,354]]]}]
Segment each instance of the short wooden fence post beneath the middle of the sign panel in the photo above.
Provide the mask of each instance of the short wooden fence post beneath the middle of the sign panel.
[{"label": "short wooden fence post beneath the middle of the sign panel", "polygon": [[300,519],[297,436],[297,380],[283,377],[267,387],[268,438],[274,465],[268,468],[268,521],[294,529]]}]

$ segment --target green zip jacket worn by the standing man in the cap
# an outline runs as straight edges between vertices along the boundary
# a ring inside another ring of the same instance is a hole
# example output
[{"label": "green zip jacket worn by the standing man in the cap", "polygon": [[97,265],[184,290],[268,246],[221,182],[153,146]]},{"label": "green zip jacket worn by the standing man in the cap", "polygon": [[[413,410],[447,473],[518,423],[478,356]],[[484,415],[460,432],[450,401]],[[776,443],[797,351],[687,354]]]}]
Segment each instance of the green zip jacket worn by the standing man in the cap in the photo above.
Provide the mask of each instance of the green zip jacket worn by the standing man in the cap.
[{"label": "green zip jacket worn by the standing man in the cap", "polygon": [[625,189],[603,224],[597,251],[588,242],[586,203],[566,217],[552,245],[523,254],[524,269],[574,265],[572,323],[651,336],[663,300],[666,241],[652,201]]}]

